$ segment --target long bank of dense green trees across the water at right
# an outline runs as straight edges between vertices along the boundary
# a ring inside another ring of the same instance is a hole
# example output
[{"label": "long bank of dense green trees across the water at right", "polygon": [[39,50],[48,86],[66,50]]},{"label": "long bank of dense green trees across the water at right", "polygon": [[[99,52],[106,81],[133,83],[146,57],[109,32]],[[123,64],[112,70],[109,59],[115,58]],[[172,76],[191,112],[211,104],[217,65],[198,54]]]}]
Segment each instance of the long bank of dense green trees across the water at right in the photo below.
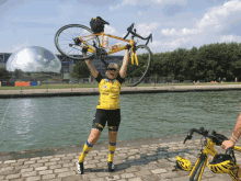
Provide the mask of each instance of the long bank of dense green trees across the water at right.
[{"label": "long bank of dense green trees across the water at right", "polygon": [[[129,65],[127,75],[135,77],[138,72]],[[217,43],[154,54],[147,76],[174,77],[180,81],[218,81],[219,78],[234,81],[236,77],[241,80],[241,43]]]}]

